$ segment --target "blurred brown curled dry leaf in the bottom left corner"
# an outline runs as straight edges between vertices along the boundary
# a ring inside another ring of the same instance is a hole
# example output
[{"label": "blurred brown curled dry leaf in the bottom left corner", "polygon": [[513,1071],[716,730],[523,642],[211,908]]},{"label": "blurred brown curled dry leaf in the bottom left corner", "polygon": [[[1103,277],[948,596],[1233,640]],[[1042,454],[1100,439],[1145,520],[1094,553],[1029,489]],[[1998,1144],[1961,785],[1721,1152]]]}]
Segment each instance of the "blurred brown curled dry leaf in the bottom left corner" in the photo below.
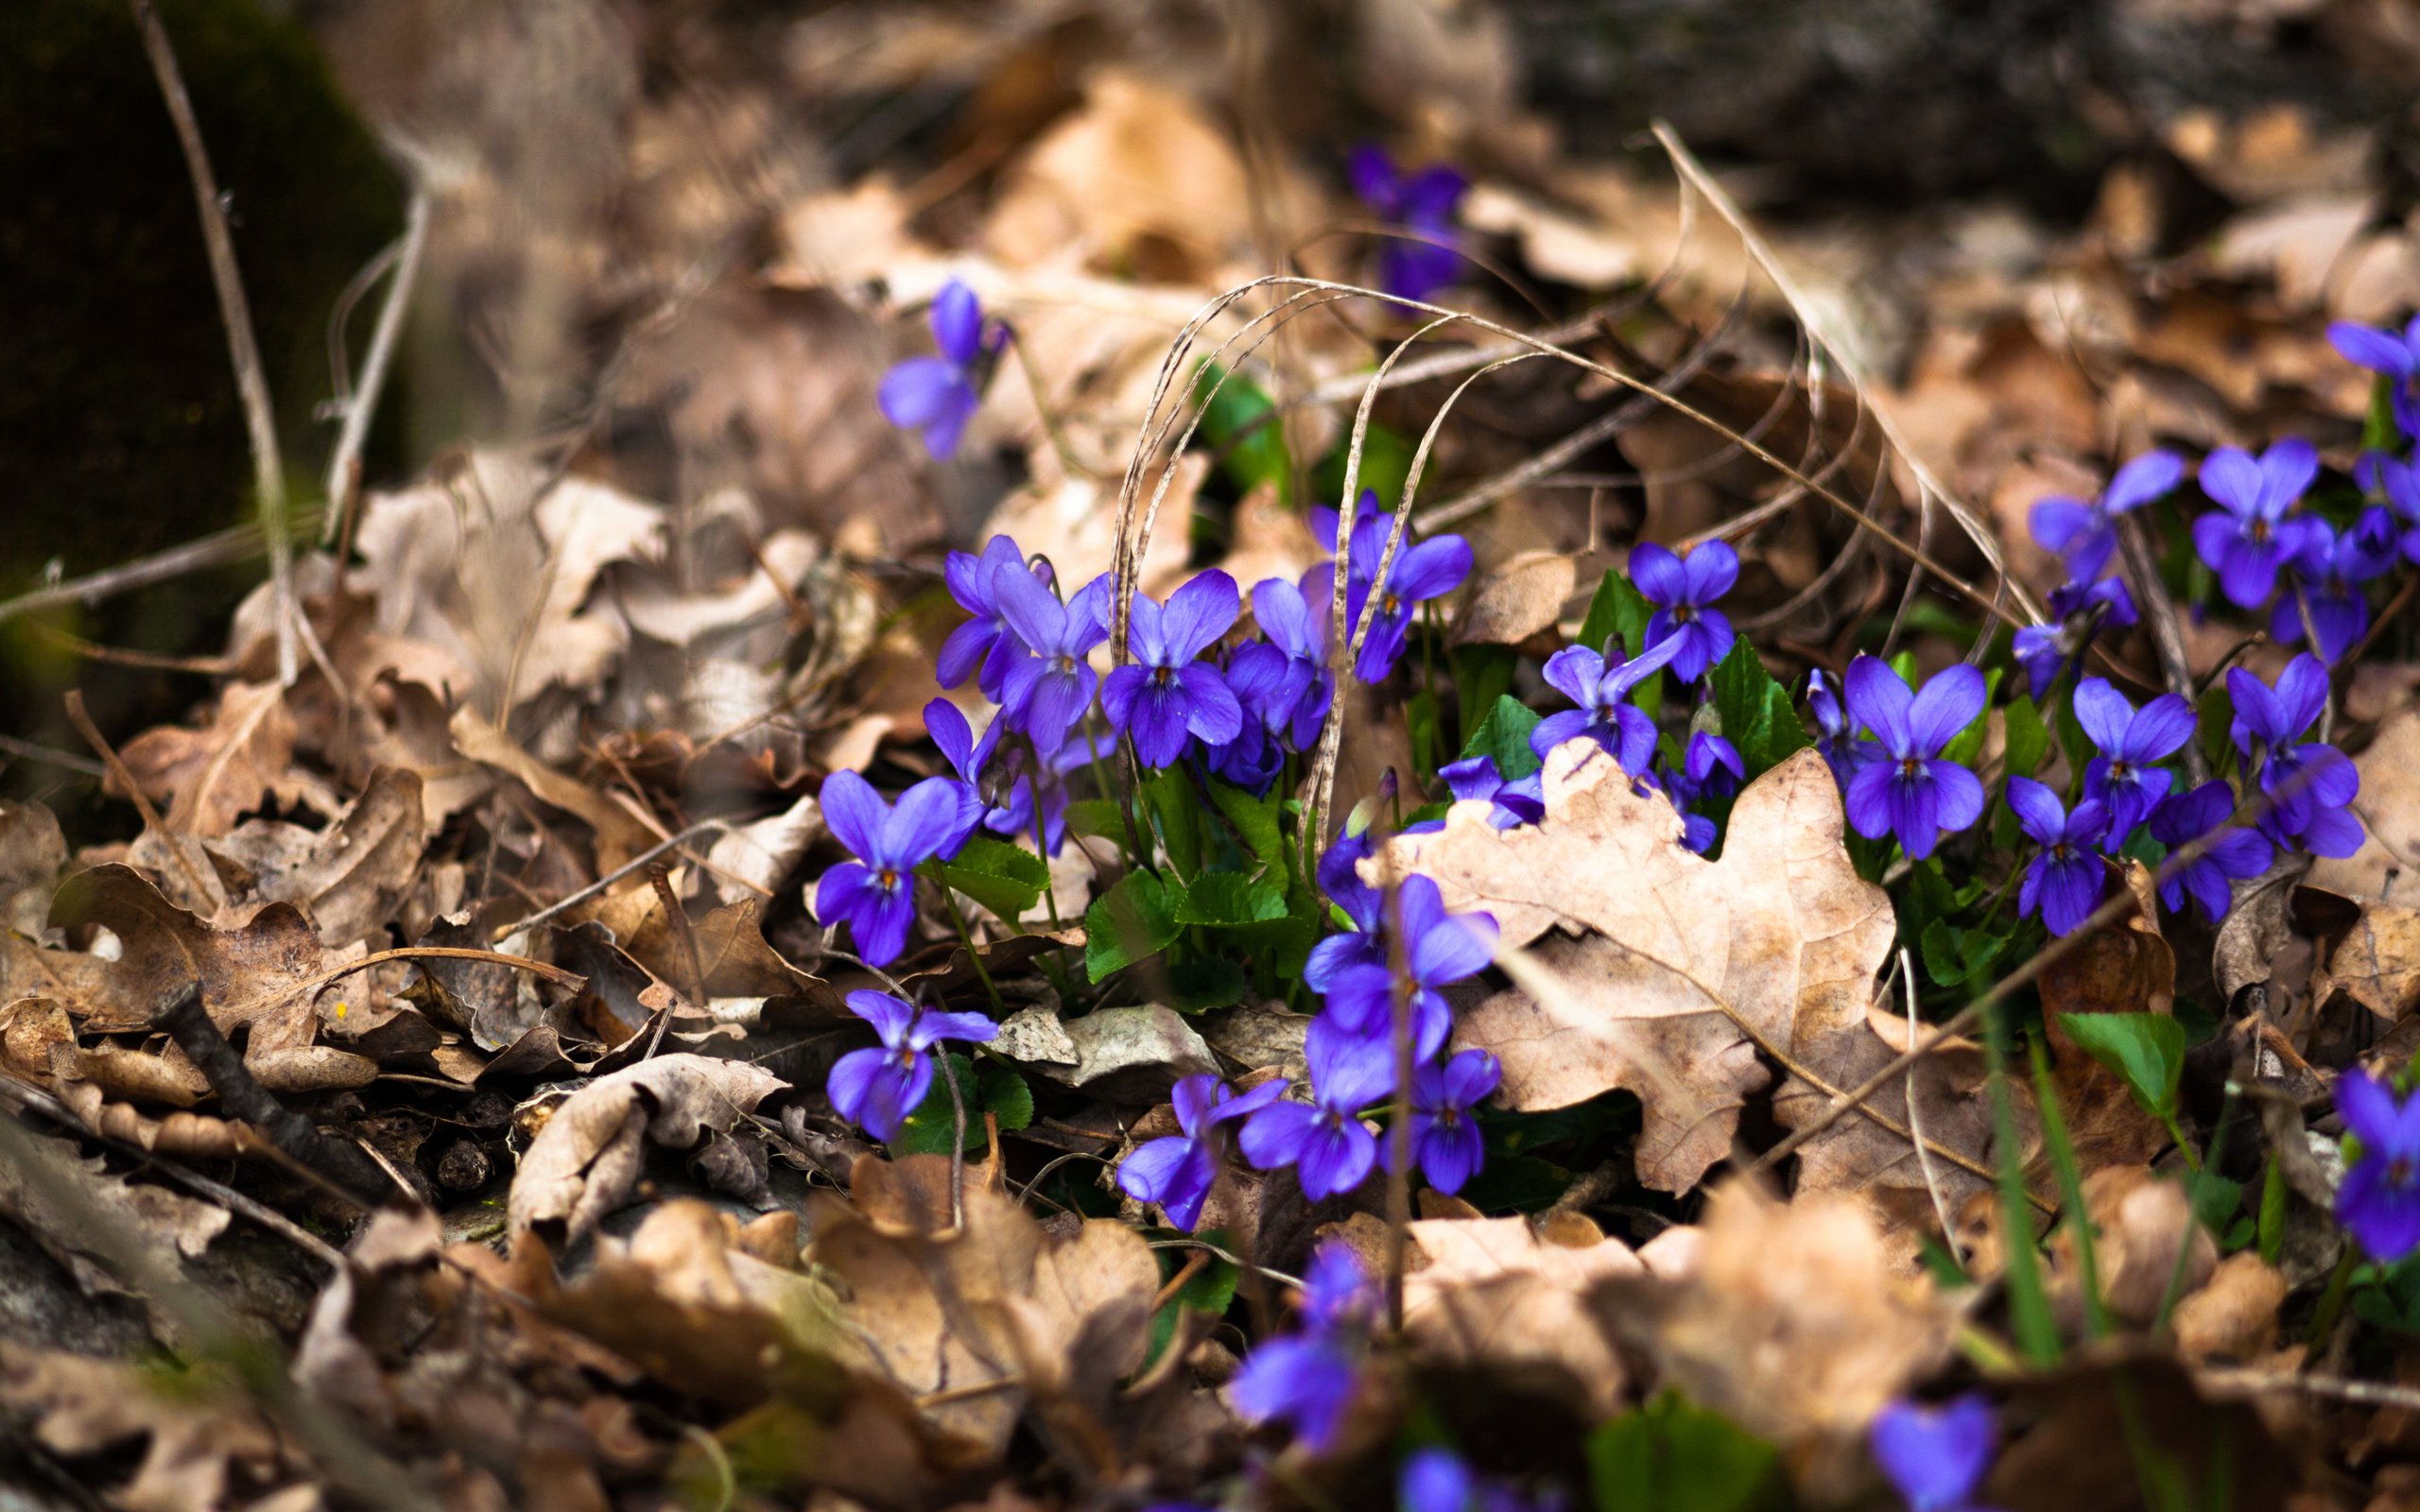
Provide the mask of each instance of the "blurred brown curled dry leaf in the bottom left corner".
[{"label": "blurred brown curled dry leaf in the bottom left corner", "polygon": [[220,1512],[252,1500],[286,1461],[276,1430],[249,1403],[167,1391],[119,1360],[0,1343],[0,1403],[29,1415],[34,1437],[70,1459],[148,1439],[133,1478],[111,1490],[126,1512]]}]

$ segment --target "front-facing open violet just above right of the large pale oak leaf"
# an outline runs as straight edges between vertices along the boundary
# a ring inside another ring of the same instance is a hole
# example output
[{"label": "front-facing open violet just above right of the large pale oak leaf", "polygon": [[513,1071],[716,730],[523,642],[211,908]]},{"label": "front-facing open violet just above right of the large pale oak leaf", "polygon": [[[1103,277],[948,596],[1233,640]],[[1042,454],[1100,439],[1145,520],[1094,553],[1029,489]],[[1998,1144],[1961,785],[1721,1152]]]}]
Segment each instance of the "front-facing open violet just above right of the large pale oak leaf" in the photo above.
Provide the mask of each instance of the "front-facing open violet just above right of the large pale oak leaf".
[{"label": "front-facing open violet just above right of the large pale oak leaf", "polygon": [[1982,781],[1941,760],[1941,748],[1982,714],[1982,673],[1965,663],[1936,673],[1921,694],[1883,660],[1849,663],[1849,719],[1878,745],[1849,779],[1849,823],[1859,835],[1897,835],[1907,859],[1921,861],[1943,830],[1982,818]]}]

